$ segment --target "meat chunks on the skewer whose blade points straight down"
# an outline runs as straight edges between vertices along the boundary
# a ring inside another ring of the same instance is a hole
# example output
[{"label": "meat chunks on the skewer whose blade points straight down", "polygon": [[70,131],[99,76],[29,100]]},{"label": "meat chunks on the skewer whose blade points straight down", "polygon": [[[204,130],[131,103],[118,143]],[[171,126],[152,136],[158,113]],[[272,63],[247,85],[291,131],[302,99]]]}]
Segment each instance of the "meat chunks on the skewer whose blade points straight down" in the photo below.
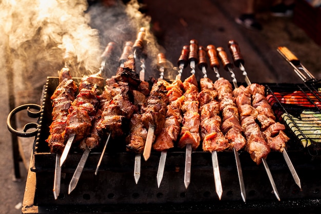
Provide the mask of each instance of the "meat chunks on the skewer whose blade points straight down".
[{"label": "meat chunks on the skewer whose blade points straight down", "polygon": [[182,105],[183,120],[180,131],[180,139],[177,146],[184,148],[192,144],[195,150],[200,144],[199,134],[199,113],[198,113],[198,84],[194,74],[190,75],[183,82],[184,102]]}]

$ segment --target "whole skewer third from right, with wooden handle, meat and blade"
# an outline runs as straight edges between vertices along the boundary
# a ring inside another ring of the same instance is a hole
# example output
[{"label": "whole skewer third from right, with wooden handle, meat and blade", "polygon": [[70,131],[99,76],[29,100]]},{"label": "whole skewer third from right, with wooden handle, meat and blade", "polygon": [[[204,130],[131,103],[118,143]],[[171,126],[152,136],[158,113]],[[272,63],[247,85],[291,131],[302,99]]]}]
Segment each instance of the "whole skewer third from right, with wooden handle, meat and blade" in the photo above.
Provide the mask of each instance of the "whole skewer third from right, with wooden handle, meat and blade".
[{"label": "whole skewer third from right, with wooden handle, meat and blade", "polygon": [[[218,61],[218,57],[217,57],[216,48],[214,45],[207,46],[207,54],[209,57],[210,67],[214,70],[214,72],[216,73],[216,77],[217,77],[217,80],[214,83],[214,88],[216,87],[215,89],[217,90],[217,92],[219,94],[231,92],[232,85],[228,81],[224,81],[224,79],[221,78],[218,73],[219,61]],[[219,86],[220,81],[226,82],[226,84]],[[226,96],[226,98],[229,98],[229,97],[230,97],[229,95]],[[231,102],[227,102],[227,104],[230,103],[230,105],[225,106],[223,96],[220,97],[220,100],[223,100],[223,102],[221,103],[222,109],[220,109],[220,111],[229,112],[228,110],[234,109],[234,111],[236,112],[236,109],[234,108],[233,105],[231,105]],[[232,101],[234,103],[234,100],[232,100]],[[224,110],[224,107],[225,107],[225,110]],[[240,128],[239,121],[228,119],[229,116],[230,116],[230,118],[233,119],[235,114],[229,115],[229,114],[224,113],[223,115],[225,115],[225,117],[223,118],[224,123],[232,122],[231,125],[233,127],[230,130],[225,131],[225,137],[229,140],[230,148],[233,149],[235,163],[236,163],[236,169],[237,169],[238,182],[239,182],[239,187],[240,187],[240,193],[241,193],[243,201],[246,202],[246,191],[245,191],[245,185],[244,185],[244,179],[243,179],[243,172],[242,172],[242,167],[240,164],[239,154],[238,154],[238,150],[243,148],[246,142],[245,142],[245,139],[242,135],[242,129]],[[227,115],[229,115],[229,116],[227,116]],[[238,119],[238,117],[237,117],[237,119]],[[235,125],[233,125],[233,123],[235,123]]]}]

